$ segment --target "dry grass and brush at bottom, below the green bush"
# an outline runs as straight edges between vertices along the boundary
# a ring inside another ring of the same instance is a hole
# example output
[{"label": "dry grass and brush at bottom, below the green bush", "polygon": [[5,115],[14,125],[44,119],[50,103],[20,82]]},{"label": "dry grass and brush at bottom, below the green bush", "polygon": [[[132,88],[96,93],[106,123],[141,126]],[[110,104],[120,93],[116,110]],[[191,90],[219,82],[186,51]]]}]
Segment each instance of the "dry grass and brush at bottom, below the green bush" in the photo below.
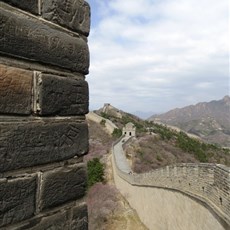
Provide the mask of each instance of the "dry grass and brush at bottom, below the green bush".
[{"label": "dry grass and brush at bottom, below the green bush", "polygon": [[114,185],[98,183],[87,197],[89,230],[147,230]]}]

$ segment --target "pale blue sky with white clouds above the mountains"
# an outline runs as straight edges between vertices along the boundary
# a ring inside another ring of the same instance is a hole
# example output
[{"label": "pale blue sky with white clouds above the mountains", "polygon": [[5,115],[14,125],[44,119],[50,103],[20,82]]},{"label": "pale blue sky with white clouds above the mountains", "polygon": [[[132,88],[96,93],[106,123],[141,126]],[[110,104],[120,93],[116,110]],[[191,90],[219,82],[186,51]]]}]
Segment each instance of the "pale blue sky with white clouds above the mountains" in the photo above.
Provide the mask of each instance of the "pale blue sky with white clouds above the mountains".
[{"label": "pale blue sky with white clouds above the mountains", "polygon": [[87,2],[90,110],[149,116],[230,94],[229,1]]}]

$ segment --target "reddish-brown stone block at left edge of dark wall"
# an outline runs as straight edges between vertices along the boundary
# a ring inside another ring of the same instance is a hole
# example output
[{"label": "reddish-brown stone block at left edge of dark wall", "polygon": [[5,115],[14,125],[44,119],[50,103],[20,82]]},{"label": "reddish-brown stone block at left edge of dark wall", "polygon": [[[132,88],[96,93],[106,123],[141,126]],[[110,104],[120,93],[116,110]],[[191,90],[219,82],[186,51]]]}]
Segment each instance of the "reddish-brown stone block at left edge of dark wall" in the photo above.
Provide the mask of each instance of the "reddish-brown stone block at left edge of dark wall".
[{"label": "reddish-brown stone block at left edge of dark wall", "polygon": [[30,114],[33,73],[0,64],[0,113]]}]

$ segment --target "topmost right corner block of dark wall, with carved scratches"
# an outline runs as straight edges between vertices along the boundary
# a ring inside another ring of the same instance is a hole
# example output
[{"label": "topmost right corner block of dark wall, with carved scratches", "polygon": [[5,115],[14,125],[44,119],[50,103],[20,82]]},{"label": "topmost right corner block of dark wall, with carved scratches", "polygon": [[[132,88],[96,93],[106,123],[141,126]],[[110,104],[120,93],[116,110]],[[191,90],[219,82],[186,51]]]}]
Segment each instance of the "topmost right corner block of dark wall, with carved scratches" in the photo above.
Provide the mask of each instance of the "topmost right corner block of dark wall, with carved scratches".
[{"label": "topmost right corner block of dark wall, with carved scratches", "polygon": [[90,7],[83,0],[46,0],[42,17],[86,36],[90,30]]}]

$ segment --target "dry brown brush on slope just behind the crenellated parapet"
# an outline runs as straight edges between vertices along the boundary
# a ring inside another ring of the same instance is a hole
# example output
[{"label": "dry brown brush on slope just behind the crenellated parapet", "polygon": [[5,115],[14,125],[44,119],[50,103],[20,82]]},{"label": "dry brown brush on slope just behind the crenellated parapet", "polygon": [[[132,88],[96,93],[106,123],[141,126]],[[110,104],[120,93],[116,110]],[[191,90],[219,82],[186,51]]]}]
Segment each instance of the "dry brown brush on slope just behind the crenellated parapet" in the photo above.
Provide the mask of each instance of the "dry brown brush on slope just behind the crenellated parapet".
[{"label": "dry brown brush on slope just behind the crenellated parapet", "polygon": [[[148,172],[153,169],[176,163],[199,162],[194,154],[185,152],[175,146],[173,140],[161,140],[157,135],[146,135],[137,138],[125,148],[128,158],[132,161],[133,171]],[[213,152],[208,156],[209,163],[230,163],[230,155],[224,151]]]}]

